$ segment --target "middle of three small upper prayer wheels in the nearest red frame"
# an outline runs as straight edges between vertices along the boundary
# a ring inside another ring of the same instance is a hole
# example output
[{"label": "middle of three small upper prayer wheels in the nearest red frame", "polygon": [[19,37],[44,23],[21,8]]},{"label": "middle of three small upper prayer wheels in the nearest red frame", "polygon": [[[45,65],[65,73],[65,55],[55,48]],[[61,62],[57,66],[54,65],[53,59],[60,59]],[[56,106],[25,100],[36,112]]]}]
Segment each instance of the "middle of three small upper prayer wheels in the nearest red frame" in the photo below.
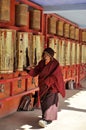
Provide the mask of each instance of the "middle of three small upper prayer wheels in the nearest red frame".
[{"label": "middle of three small upper prayer wheels in the nearest red frame", "polygon": [[28,6],[26,4],[16,5],[15,23],[17,26],[28,26]]}]

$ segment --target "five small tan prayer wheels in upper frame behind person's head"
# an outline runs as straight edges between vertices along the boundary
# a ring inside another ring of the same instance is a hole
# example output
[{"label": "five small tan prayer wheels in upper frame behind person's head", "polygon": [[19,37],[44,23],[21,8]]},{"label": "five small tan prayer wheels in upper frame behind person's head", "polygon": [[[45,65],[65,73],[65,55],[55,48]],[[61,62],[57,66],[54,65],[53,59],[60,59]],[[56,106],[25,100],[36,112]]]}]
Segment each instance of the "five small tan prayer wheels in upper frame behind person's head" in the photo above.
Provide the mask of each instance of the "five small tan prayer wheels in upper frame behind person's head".
[{"label": "five small tan prayer wheels in upper frame behind person's head", "polygon": [[69,23],[64,23],[55,17],[48,18],[48,33],[79,40],[79,28]]}]

